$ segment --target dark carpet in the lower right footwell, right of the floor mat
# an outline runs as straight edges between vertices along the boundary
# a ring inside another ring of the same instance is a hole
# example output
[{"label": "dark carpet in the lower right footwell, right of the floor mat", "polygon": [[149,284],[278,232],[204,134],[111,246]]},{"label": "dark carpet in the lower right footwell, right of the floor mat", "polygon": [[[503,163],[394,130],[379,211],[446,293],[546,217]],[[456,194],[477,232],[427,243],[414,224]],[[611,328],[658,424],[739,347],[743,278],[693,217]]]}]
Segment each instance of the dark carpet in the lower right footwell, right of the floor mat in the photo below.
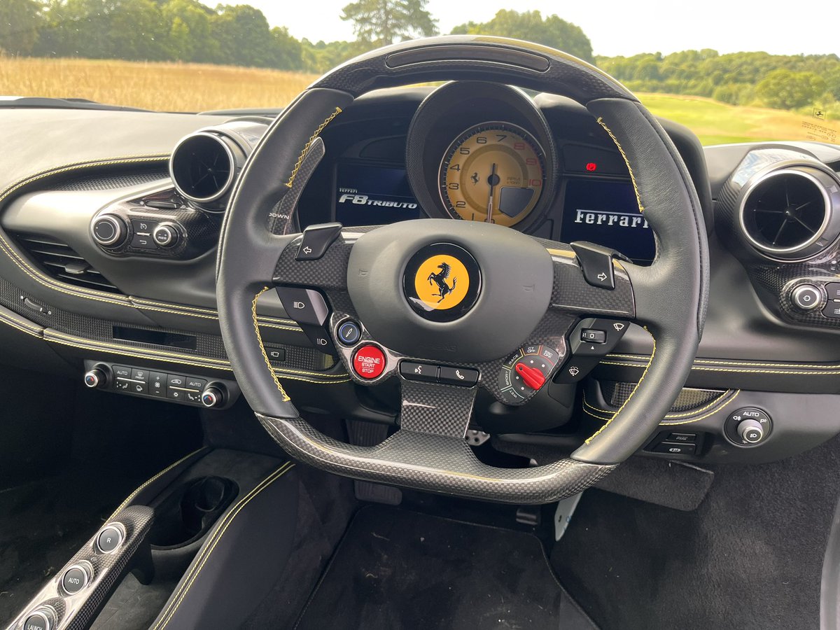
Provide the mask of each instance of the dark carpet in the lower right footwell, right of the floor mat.
[{"label": "dark carpet in the lower right footwell, right of the floor mat", "polygon": [[602,628],[819,627],[840,439],[772,464],[714,470],[695,512],[585,492],[551,560]]}]

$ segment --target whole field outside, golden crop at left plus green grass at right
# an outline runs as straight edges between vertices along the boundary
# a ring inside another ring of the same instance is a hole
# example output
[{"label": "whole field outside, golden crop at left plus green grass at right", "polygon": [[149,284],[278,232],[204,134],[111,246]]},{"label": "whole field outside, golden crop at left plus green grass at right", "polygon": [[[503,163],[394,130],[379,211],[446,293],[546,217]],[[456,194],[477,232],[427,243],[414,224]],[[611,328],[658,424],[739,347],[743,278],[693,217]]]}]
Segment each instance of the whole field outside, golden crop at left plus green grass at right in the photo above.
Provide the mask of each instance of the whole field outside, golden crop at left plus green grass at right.
[{"label": "whole field outside, golden crop at left plus green grass at right", "polygon": [[[315,78],[234,66],[0,57],[0,96],[89,98],[160,111],[281,107]],[[834,120],[735,107],[710,98],[639,97],[656,115],[694,131],[703,144],[773,139],[840,142],[840,123]]]}]

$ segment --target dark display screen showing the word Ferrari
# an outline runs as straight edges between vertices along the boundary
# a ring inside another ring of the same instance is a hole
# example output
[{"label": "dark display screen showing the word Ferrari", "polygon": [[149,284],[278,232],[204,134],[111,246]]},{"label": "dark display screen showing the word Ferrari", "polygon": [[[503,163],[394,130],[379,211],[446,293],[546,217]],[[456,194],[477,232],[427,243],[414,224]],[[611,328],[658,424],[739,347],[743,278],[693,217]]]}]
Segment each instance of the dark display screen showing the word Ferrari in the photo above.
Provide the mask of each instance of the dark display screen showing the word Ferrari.
[{"label": "dark display screen showing the word Ferrari", "polygon": [[604,245],[633,262],[650,262],[656,255],[654,230],[639,212],[630,182],[568,181],[560,239]]}]

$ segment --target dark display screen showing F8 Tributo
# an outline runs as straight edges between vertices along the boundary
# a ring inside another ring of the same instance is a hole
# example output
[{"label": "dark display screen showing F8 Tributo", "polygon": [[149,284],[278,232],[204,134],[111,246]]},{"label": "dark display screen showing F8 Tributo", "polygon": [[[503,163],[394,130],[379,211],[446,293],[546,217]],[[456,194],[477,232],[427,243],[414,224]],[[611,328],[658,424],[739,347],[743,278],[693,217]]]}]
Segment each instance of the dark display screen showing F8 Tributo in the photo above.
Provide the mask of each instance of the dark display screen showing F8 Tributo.
[{"label": "dark display screen showing F8 Tributo", "polygon": [[386,225],[421,217],[405,169],[339,163],[335,186],[335,220],[342,225]]}]

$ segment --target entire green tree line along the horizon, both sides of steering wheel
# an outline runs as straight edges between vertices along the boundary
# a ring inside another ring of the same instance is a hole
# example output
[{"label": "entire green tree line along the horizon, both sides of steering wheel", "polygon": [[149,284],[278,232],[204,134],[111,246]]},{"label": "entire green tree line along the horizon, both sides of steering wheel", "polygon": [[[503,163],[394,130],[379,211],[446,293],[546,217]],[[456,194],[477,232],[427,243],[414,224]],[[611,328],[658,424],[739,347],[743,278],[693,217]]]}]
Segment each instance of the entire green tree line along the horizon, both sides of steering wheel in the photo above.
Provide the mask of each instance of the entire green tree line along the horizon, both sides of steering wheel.
[{"label": "entire green tree line along the horizon, both sides of steering wheel", "polygon": [[[366,50],[438,34],[428,0],[357,0],[339,16],[354,41],[311,42],[247,4],[210,8],[198,0],[0,0],[0,55],[184,61],[323,72]],[[837,55],[769,55],[685,50],[671,55],[592,55],[575,24],[538,11],[501,10],[453,34],[529,39],[594,62],[638,92],[711,97],[734,105],[794,109],[840,102]]]}]

